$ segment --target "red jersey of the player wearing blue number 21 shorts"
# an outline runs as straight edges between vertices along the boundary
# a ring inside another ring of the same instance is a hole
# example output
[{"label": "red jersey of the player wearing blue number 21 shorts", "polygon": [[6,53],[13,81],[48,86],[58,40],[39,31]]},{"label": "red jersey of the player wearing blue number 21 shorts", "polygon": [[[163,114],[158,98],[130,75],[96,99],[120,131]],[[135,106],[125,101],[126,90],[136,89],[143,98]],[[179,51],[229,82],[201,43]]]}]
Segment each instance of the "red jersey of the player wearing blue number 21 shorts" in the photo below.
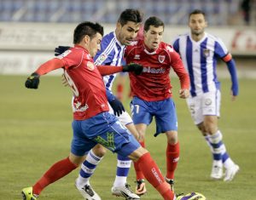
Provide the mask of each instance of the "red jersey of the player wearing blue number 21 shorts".
[{"label": "red jersey of the player wearing blue number 21 shorts", "polygon": [[189,89],[189,75],[183,67],[179,54],[167,43],[160,43],[158,49],[149,52],[143,40],[135,42],[125,49],[125,60],[144,66],[139,76],[129,73],[131,94],[142,100],[166,100],[172,97],[170,78],[171,67],[180,79],[181,88]]}]

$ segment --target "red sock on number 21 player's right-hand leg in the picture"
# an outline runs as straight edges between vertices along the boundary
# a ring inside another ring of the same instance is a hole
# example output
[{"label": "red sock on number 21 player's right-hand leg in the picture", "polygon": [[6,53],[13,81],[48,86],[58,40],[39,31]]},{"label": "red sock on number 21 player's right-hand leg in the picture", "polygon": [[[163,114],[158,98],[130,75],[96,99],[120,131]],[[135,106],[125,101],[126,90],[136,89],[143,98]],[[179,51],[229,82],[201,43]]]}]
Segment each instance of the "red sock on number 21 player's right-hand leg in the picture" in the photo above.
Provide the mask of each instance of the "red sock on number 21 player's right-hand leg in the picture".
[{"label": "red sock on number 21 player's right-hand leg in the picture", "polygon": [[179,143],[175,145],[167,144],[166,148],[166,178],[173,180],[174,171],[177,168],[177,161],[179,158]]}]

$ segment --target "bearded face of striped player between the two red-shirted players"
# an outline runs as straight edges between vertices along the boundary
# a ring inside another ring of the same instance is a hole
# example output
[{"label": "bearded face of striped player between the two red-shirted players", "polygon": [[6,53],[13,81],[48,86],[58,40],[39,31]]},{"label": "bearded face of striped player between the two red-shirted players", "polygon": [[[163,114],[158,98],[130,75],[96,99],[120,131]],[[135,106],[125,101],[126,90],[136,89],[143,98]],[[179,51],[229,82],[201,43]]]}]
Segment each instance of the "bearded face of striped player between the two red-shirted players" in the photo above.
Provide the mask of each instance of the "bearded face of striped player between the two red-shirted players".
[{"label": "bearded face of striped player between the two red-shirted players", "polygon": [[121,26],[121,24],[118,22],[116,28],[116,37],[119,40],[119,43],[122,45],[130,45],[131,42],[137,37],[140,25],[140,23],[128,21],[124,26]]}]

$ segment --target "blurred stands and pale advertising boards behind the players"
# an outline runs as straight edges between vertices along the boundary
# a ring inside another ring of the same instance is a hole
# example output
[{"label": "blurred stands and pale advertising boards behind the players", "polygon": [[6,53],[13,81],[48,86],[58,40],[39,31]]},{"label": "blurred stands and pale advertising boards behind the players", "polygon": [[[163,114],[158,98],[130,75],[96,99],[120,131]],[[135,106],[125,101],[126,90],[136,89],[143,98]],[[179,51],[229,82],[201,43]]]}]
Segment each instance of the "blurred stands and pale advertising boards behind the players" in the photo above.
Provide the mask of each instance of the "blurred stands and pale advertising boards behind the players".
[{"label": "blurred stands and pale advertising boards behind the players", "polygon": [[56,45],[72,45],[73,29],[83,20],[113,31],[127,8],[164,20],[166,43],[189,31],[189,12],[203,9],[207,31],[224,40],[238,66],[255,61],[256,0],[0,0],[0,74],[26,74],[51,58]]}]

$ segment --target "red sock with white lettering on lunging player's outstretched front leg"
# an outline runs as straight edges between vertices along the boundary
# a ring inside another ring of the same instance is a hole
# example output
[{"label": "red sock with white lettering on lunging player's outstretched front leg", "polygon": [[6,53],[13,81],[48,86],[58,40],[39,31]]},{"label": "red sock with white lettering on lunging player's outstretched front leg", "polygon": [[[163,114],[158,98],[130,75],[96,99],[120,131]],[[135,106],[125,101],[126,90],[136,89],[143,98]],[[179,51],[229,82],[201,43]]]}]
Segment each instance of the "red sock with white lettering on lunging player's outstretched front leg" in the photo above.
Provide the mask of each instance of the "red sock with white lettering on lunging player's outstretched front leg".
[{"label": "red sock with white lettering on lunging player's outstretched front leg", "polygon": [[157,164],[154,163],[149,152],[140,157],[137,163],[140,169],[143,170],[143,174],[148,182],[160,192],[160,195],[164,197],[165,200],[173,200],[175,195],[173,191],[171,191],[169,184],[166,183],[163,175],[160,173],[160,169]]}]

